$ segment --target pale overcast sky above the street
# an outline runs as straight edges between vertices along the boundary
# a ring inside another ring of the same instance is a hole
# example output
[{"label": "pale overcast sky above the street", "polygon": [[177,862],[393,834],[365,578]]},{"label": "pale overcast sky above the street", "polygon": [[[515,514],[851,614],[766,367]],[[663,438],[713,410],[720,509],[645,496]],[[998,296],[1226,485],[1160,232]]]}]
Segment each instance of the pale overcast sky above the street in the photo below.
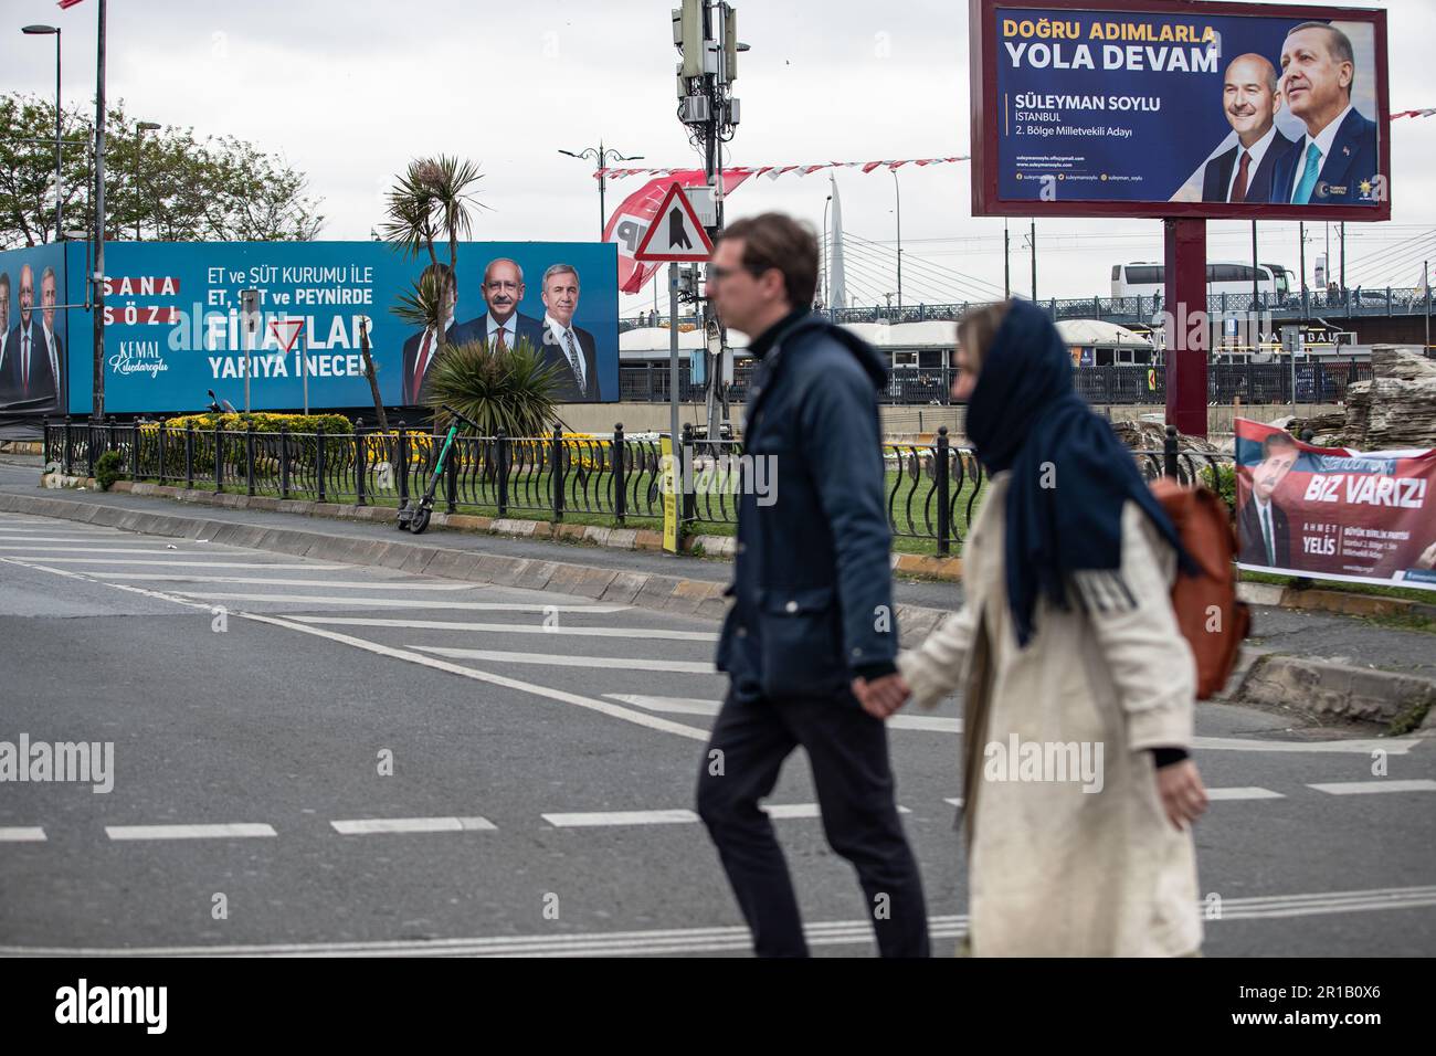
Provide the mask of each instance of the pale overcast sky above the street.
[{"label": "pale overcast sky above the street", "polygon": [[[480,162],[475,238],[592,240],[597,181],[561,157],[602,136],[643,165],[698,165],[673,116],[672,0],[111,0],[109,93],[128,112],[200,135],[234,134],[309,174],[327,217],[320,237],[366,238],[382,191],[416,155]],[[1234,4],[1235,6],[1235,4]],[[67,103],[92,98],[98,0],[0,0],[7,91],[55,92],[52,39],[65,30]],[[728,164],[951,157],[969,151],[968,16],[958,0],[738,0],[742,124]],[[1390,0],[1391,109],[1436,106],[1433,0]],[[1413,284],[1436,260],[1436,116],[1391,125],[1393,220],[1351,224],[1348,282]],[[974,218],[966,162],[903,168],[905,302],[965,299],[1002,286],[1002,221]],[[607,205],[639,178],[610,181]],[[893,177],[839,174],[849,292],[896,290]],[[823,216],[824,174],[750,181],[728,218],[770,208]],[[1208,226],[1209,257],[1249,259],[1245,223]],[[1025,221],[1012,223],[1012,284],[1031,289]],[[1308,226],[1323,249],[1324,226]],[[1261,226],[1262,260],[1297,269],[1297,224]],[[864,240],[864,241],[860,241]],[[1111,264],[1160,259],[1159,221],[1037,224],[1041,297],[1106,295]],[[1333,236],[1334,243],[1334,236]],[[1404,244],[1404,246],[1403,246]],[[1380,254],[1380,256],[1377,256]],[[1311,269],[1308,247],[1308,273]],[[1363,264],[1363,260],[1369,263]],[[648,295],[651,297],[651,293]],[[623,299],[630,313],[645,299]]]}]

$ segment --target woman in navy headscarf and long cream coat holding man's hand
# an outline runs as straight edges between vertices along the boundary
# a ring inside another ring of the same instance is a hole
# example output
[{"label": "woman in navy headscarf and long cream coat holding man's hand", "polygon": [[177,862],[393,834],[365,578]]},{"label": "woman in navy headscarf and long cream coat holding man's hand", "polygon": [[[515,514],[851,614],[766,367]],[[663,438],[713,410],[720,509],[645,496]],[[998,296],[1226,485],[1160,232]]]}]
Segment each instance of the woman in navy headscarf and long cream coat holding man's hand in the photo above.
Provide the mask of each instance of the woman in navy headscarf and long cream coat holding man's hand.
[{"label": "woman in navy headscarf and long cream coat holding man's hand", "polygon": [[[974,955],[1190,955],[1196,671],[1170,585],[1192,568],[1132,453],[1073,389],[1030,302],[969,315],[954,397],[991,476],[964,550],[965,603],[854,684],[873,714],[964,697]],[[1180,569],[1179,569],[1180,566]],[[896,680],[893,680],[896,681]]]}]

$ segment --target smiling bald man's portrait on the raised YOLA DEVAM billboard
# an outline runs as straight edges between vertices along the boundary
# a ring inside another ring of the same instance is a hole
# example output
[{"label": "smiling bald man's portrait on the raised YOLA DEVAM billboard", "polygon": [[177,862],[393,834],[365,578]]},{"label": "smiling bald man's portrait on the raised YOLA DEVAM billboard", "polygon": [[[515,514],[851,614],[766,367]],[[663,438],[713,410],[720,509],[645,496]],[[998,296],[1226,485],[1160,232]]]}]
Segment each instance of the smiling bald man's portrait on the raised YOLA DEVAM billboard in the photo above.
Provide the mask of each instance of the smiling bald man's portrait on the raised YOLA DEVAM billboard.
[{"label": "smiling bald man's portrait on the raised YOLA DEVAM billboard", "polygon": [[1271,201],[1277,161],[1295,144],[1277,128],[1277,68],[1261,55],[1238,55],[1222,78],[1222,112],[1236,144],[1206,162],[1202,201]]}]

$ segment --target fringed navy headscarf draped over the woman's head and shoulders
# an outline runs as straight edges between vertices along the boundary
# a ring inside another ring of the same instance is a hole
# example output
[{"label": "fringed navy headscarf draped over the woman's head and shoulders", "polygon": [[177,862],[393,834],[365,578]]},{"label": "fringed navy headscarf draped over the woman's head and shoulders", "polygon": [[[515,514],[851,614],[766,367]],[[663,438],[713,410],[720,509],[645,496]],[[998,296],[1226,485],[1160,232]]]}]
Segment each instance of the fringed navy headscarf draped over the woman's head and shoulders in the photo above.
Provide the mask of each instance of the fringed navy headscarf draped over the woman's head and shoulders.
[{"label": "fringed navy headscarf draped over the woman's head and shoulders", "polygon": [[1066,609],[1068,573],[1122,566],[1127,499],[1172,543],[1182,568],[1195,568],[1132,451],[1073,389],[1071,353],[1031,302],[1011,302],[982,353],[966,432],[988,473],[1012,471],[1005,563],[1018,645],[1032,636],[1038,596]]}]

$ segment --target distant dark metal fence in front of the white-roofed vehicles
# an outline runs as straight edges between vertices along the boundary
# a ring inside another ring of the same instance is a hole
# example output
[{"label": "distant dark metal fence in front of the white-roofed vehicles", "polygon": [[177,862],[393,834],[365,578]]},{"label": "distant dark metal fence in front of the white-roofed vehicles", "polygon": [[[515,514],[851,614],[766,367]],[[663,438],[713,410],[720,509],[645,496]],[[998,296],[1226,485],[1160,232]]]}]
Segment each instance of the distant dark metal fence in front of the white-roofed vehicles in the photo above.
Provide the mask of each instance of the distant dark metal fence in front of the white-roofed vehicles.
[{"label": "distant dark metal fence in front of the white-roofed vehicles", "polygon": [[[734,368],[734,384],[728,398],[741,402],[748,398],[752,368]],[[945,407],[952,402],[952,381],[956,368],[936,366],[889,374],[879,399],[890,405]],[[1371,379],[1371,363],[1308,362],[1297,363],[1297,399],[1302,404],[1333,404],[1346,399],[1347,385]],[[1078,366],[1073,371],[1077,391],[1090,404],[1166,404],[1166,369],[1150,363],[1117,363],[1110,366]],[[619,398],[632,402],[668,402],[666,363],[629,363],[619,368]],[[1211,363],[1206,368],[1209,404],[1290,404],[1291,363]],[[686,366],[679,376],[679,402],[704,399],[701,385],[688,381]]]}]

